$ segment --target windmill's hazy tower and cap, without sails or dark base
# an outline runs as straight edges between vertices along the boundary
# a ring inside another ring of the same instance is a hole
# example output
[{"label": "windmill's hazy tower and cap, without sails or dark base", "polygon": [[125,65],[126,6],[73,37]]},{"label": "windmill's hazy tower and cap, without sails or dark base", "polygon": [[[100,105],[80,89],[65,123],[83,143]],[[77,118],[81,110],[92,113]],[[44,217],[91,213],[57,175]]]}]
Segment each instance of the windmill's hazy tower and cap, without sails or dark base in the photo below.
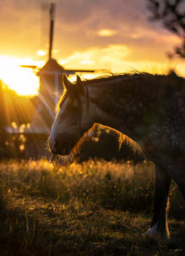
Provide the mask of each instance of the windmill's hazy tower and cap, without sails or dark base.
[{"label": "windmill's hazy tower and cap, without sails or dark base", "polygon": [[31,131],[48,134],[55,118],[55,106],[63,93],[62,75],[65,69],[55,59],[49,59],[37,75],[40,77],[40,89],[36,102],[36,111],[31,121]]}]

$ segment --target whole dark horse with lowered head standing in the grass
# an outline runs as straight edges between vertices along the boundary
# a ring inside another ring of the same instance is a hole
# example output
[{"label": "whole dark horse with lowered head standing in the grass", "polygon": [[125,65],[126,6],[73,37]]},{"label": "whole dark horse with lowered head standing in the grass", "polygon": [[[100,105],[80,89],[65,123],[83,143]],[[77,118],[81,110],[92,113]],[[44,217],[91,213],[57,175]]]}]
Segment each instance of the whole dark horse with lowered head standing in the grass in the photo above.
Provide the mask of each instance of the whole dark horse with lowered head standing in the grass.
[{"label": "whole dark horse with lowered head standing in the grass", "polygon": [[138,143],[154,163],[154,215],[148,236],[170,238],[169,189],[173,179],[185,197],[185,79],[175,72],[110,75],[71,83],[64,92],[49,137],[54,156],[74,157],[96,124]]}]

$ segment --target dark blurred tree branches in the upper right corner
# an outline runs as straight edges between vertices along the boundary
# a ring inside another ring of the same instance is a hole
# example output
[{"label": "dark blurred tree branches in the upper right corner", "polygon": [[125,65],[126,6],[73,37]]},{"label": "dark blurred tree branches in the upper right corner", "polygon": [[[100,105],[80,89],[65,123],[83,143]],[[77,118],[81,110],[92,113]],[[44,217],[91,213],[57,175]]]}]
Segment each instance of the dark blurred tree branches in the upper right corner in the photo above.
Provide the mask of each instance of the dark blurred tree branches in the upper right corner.
[{"label": "dark blurred tree branches in the upper right corner", "polygon": [[185,1],[184,0],[146,0],[152,13],[151,21],[162,21],[165,29],[172,31],[181,39],[181,45],[176,46],[169,58],[180,56],[185,58]]}]

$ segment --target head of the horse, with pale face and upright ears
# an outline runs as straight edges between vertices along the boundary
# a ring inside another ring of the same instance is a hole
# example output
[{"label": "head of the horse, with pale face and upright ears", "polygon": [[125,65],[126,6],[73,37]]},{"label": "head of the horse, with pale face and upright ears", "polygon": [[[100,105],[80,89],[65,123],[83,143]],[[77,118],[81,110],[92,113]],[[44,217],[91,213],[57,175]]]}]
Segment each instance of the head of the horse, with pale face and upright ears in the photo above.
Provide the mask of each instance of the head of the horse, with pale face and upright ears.
[{"label": "head of the horse, with pale face and upright ears", "polygon": [[58,113],[49,137],[52,154],[66,156],[76,151],[79,140],[94,124],[94,113],[87,87],[77,75],[71,83],[63,75],[64,93],[58,102]]}]

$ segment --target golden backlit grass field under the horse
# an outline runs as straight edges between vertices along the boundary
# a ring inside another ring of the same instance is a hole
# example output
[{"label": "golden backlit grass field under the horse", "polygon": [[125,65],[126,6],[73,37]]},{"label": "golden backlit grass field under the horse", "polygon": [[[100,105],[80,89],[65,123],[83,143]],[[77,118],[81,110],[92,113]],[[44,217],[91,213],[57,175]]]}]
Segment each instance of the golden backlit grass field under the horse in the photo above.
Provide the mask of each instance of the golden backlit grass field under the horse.
[{"label": "golden backlit grass field under the horse", "polygon": [[145,238],[150,162],[0,164],[0,255],[185,255],[185,200],[170,189],[170,241]]}]

